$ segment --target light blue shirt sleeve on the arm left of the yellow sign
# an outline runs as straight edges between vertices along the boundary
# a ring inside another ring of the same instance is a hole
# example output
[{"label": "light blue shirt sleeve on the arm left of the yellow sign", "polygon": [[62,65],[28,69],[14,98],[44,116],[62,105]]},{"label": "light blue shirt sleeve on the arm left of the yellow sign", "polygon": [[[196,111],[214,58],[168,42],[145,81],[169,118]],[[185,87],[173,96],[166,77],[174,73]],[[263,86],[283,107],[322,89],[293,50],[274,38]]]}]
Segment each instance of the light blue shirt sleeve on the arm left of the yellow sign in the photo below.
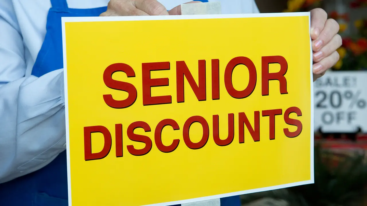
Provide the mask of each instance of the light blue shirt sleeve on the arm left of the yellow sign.
[{"label": "light blue shirt sleeve on the arm left of the yellow sign", "polygon": [[11,0],[0,1],[0,183],[65,150],[63,70],[25,77],[25,47]]}]

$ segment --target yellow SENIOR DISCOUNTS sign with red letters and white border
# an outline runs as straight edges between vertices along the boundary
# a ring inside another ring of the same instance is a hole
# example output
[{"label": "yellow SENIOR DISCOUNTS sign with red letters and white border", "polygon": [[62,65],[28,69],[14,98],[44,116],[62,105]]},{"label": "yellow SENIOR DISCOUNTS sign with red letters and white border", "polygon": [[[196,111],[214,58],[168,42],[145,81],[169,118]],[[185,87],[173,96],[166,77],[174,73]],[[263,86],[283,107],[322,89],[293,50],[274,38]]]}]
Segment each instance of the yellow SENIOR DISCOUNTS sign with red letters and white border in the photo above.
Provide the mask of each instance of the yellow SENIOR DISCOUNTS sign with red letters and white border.
[{"label": "yellow SENIOR DISCOUNTS sign with red letters and white border", "polygon": [[309,13],[63,18],[69,204],[313,183]]}]

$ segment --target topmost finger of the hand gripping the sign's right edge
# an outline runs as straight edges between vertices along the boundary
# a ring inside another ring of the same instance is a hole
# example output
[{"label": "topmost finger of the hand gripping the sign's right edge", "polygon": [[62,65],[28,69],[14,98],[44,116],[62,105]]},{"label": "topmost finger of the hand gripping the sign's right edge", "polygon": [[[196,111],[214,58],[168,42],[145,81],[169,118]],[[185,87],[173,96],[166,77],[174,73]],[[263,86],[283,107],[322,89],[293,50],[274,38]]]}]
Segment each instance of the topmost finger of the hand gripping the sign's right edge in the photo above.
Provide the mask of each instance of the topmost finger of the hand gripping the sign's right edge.
[{"label": "topmost finger of the hand gripping the sign's right edge", "polygon": [[327,13],[321,8],[315,8],[311,12],[311,38],[316,40],[324,29]]}]

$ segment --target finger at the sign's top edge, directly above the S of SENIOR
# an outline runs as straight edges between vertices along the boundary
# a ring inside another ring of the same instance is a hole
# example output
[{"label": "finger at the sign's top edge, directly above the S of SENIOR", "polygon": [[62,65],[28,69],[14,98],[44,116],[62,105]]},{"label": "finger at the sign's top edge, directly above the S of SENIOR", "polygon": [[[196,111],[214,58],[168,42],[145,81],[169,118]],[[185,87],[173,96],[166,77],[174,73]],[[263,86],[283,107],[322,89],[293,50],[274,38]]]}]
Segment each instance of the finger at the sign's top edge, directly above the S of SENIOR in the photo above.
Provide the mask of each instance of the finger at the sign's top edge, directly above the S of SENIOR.
[{"label": "finger at the sign's top edge, directly above the S of SENIOR", "polygon": [[131,2],[109,1],[107,11],[102,16],[149,16],[146,12],[137,9]]}]

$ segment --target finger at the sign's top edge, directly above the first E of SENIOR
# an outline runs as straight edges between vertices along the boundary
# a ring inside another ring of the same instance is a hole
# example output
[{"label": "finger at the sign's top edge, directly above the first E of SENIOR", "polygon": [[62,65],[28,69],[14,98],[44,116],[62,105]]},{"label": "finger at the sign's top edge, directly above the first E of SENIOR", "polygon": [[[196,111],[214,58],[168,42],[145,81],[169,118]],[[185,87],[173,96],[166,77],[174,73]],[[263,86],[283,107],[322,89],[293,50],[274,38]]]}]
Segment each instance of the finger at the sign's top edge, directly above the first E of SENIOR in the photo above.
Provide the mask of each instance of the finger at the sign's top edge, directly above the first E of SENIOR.
[{"label": "finger at the sign's top edge, directly above the first E of SENIOR", "polygon": [[169,15],[166,7],[157,0],[140,0],[134,1],[134,5],[141,11],[151,16]]}]

